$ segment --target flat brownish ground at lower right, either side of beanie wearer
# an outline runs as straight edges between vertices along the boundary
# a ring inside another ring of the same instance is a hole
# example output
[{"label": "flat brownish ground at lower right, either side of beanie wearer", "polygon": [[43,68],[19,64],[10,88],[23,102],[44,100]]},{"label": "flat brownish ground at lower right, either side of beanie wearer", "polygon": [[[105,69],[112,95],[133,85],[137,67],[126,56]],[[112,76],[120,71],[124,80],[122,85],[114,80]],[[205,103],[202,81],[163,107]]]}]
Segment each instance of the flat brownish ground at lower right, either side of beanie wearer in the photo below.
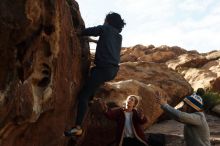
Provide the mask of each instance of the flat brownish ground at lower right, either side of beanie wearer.
[{"label": "flat brownish ground at lower right, either side of beanie wearer", "polygon": [[[213,115],[206,115],[206,119],[210,128],[211,145],[220,146],[220,118]],[[166,120],[156,123],[147,129],[146,133],[153,135],[156,139],[163,139],[161,146],[185,146],[183,124],[177,121]],[[160,146],[160,144],[156,145]]]}]

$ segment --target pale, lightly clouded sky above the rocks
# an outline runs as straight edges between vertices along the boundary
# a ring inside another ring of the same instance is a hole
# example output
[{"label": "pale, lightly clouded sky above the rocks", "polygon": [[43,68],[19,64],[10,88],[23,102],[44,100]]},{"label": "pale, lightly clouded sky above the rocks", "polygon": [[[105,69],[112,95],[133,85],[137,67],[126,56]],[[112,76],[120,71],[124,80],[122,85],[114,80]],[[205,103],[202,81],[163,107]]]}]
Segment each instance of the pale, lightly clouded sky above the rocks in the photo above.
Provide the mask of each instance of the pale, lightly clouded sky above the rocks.
[{"label": "pale, lightly clouded sky above the rocks", "polygon": [[[86,27],[106,14],[125,20],[123,47],[179,46],[200,53],[220,50],[220,0],[76,0]],[[94,48],[91,45],[91,48]]]}]

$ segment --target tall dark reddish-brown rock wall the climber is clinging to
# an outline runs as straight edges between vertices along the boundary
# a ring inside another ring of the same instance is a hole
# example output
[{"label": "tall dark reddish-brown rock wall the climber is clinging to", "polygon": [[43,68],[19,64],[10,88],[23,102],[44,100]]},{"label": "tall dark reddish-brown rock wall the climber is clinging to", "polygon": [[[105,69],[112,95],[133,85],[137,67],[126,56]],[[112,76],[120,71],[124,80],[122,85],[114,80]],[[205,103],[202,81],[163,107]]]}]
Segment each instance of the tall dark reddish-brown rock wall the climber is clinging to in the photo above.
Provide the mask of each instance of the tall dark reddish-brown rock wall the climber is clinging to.
[{"label": "tall dark reddish-brown rock wall the climber is clinging to", "polygon": [[67,145],[64,129],[89,66],[75,1],[0,4],[0,145]]}]

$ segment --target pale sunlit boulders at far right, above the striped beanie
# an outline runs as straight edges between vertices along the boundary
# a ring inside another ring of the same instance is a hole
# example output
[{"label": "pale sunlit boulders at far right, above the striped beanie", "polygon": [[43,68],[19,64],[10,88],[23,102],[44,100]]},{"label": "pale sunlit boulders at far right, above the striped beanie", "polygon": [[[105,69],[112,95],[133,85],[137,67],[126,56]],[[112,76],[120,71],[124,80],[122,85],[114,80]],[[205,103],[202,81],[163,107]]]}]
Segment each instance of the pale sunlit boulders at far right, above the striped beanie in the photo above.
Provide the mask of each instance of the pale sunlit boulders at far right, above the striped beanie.
[{"label": "pale sunlit boulders at far right, above the striped beanie", "polygon": [[220,54],[212,52],[204,54],[183,54],[166,64],[182,74],[194,90],[205,88],[220,92]]}]

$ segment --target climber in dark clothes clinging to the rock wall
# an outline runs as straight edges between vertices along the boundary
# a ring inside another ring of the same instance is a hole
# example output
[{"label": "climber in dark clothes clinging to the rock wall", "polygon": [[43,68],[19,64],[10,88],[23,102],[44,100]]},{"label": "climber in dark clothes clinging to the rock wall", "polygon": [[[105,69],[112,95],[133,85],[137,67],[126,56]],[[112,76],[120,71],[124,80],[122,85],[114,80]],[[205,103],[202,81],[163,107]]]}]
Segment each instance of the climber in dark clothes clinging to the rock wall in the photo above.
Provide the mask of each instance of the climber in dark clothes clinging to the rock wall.
[{"label": "climber in dark clothes clinging to the rock wall", "polygon": [[64,132],[65,136],[82,135],[82,122],[97,89],[104,82],[113,80],[119,70],[122,36],[120,32],[125,22],[117,13],[106,15],[103,25],[86,28],[82,36],[99,36],[95,53],[95,66],[90,70],[90,76],[78,96],[78,107],[75,127]]}]

